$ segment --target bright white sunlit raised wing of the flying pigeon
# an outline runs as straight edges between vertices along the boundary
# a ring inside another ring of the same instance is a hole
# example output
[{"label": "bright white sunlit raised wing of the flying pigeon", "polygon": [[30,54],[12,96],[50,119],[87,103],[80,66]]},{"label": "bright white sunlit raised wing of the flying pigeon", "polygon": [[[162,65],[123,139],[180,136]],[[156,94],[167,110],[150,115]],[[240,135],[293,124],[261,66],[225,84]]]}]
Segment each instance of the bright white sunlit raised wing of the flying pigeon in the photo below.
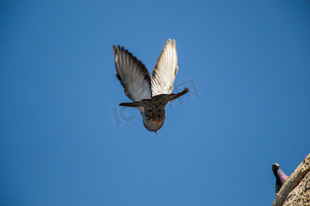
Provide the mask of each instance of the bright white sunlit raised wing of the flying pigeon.
[{"label": "bright white sunlit raised wing of the flying pigeon", "polygon": [[169,39],[159,56],[151,77],[152,95],[170,94],[178,72],[176,41]]}]

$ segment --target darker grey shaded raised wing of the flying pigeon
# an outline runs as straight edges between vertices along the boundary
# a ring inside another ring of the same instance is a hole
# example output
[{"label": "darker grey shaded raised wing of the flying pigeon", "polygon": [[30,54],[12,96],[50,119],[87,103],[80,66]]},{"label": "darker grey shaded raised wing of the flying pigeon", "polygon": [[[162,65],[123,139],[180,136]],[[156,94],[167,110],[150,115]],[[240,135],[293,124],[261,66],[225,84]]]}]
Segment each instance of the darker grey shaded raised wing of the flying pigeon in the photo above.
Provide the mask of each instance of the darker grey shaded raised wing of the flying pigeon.
[{"label": "darker grey shaded raised wing of the flying pigeon", "polygon": [[132,102],[152,97],[149,71],[145,65],[132,56],[127,49],[113,45],[116,76],[124,87],[125,94]]}]

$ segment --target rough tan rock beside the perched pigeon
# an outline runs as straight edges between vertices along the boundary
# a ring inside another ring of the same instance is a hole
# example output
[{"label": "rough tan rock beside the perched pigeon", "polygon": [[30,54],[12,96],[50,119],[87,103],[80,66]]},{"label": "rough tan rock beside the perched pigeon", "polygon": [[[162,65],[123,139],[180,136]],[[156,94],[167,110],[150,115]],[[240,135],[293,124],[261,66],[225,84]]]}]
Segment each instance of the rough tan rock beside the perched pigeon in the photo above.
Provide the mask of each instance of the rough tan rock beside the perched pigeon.
[{"label": "rough tan rock beside the perched pigeon", "polygon": [[310,205],[310,154],[289,176],[278,192],[273,206]]}]

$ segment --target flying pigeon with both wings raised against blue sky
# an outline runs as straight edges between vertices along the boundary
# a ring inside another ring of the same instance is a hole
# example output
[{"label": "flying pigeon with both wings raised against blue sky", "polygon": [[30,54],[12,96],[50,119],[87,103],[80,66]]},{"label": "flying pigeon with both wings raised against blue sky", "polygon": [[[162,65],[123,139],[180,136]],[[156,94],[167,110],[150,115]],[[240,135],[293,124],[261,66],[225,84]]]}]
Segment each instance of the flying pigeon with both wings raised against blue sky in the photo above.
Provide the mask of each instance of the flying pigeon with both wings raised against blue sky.
[{"label": "flying pigeon with both wings raised against blue sky", "polygon": [[132,100],[119,105],[138,108],[145,128],[158,134],[157,130],[165,122],[165,106],[188,92],[185,88],[180,93],[172,93],[178,72],[176,41],[169,39],[166,42],[151,77],[145,65],[127,49],[113,45],[113,51],[116,76]]}]

